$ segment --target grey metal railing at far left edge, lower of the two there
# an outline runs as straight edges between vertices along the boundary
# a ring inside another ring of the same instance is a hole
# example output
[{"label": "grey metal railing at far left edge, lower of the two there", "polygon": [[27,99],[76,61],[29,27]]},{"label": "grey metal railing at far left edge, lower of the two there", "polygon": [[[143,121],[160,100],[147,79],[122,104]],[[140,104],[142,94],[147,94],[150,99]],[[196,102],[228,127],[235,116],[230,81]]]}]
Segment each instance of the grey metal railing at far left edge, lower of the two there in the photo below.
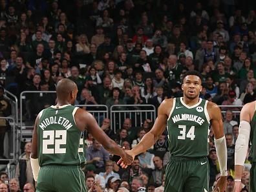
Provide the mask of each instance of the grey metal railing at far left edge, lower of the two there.
[{"label": "grey metal railing at far left edge, lower of the two there", "polygon": [[18,156],[18,151],[19,150],[19,140],[17,139],[18,134],[17,134],[17,129],[16,129],[16,124],[15,124],[15,119],[13,117],[0,117],[0,120],[7,120],[10,124],[11,131],[6,133],[8,136],[8,140],[5,140],[4,143],[4,155],[7,153],[8,157],[7,158],[0,158],[0,162],[6,162],[6,161],[12,161],[15,160]]}]

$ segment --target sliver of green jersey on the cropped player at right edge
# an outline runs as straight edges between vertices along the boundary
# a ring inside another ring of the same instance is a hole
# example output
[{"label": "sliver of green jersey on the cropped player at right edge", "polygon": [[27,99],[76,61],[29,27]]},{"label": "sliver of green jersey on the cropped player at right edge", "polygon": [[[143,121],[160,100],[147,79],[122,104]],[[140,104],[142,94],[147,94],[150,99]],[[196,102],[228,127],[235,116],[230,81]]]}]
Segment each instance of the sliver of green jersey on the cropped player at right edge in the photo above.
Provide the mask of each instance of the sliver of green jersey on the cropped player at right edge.
[{"label": "sliver of green jersey on the cropped player at right edge", "polygon": [[250,160],[256,162],[256,111],[253,114],[251,119],[251,133],[250,133],[250,142],[251,142],[251,151],[250,151]]}]

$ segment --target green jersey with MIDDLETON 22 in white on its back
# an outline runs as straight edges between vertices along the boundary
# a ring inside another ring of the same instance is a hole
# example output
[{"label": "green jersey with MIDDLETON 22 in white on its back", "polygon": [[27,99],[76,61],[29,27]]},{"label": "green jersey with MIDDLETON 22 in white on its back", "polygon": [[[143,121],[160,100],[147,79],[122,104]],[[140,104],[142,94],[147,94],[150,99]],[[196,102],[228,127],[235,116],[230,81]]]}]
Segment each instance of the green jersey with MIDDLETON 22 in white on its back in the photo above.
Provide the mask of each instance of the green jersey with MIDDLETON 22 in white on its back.
[{"label": "green jersey with MIDDLETON 22 in white on its back", "polygon": [[39,165],[80,165],[85,162],[83,132],[76,127],[78,107],[51,106],[39,113],[37,153]]}]

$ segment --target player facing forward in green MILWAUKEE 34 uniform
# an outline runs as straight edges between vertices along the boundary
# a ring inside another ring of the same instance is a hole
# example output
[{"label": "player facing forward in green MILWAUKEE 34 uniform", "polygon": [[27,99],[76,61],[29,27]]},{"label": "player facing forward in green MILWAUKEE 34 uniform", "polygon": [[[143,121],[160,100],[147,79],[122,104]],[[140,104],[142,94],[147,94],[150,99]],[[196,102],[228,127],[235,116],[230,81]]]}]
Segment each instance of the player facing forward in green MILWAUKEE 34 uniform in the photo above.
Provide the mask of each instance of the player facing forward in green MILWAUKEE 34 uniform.
[{"label": "player facing forward in green MILWAUKEE 34 uniform", "polygon": [[[215,134],[215,146],[220,164],[220,179],[214,191],[223,192],[227,179],[227,149],[220,108],[199,98],[202,78],[188,71],[182,82],[184,96],[164,100],[149,133],[131,151],[133,157],[155,144],[167,126],[171,159],[166,167],[164,191],[206,192],[209,185],[208,131],[209,123]],[[122,167],[127,164],[118,161]]]}]

